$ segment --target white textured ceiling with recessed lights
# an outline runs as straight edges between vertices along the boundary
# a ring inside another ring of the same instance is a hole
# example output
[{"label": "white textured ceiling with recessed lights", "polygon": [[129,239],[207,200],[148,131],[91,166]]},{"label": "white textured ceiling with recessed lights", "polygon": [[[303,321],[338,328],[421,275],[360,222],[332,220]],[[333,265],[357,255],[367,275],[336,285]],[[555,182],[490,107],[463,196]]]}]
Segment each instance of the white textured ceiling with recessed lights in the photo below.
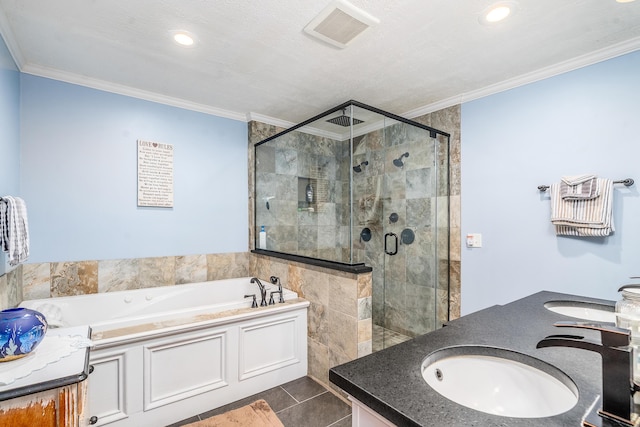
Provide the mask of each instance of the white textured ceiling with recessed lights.
[{"label": "white textured ceiling with recessed lights", "polygon": [[303,32],[329,3],[0,0],[0,32],[25,73],[291,123],[349,99],[413,117],[640,49],[640,0],[519,0],[495,26],[494,1],[351,0],[380,23],[346,49]]}]

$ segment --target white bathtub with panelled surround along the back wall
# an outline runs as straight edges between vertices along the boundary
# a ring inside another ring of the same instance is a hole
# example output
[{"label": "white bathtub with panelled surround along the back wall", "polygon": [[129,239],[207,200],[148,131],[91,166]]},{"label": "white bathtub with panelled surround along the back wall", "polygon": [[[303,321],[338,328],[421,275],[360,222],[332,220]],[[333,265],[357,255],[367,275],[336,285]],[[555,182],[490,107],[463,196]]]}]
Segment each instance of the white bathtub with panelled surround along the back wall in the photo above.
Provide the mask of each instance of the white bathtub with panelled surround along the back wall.
[{"label": "white bathtub with panelled surround along the back wall", "polygon": [[[29,300],[52,327],[90,325],[87,420],[168,425],[307,374],[307,307],[252,308],[249,277]],[[270,292],[277,288],[262,280]]]}]

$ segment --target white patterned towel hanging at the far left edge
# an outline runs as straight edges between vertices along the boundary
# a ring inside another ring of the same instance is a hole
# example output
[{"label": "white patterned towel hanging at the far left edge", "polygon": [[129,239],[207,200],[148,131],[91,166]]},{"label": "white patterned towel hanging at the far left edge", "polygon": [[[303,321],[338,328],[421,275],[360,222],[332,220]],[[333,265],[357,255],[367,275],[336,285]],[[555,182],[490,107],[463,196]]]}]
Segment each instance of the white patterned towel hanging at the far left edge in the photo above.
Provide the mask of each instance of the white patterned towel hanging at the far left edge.
[{"label": "white patterned towel hanging at the far left edge", "polygon": [[29,258],[27,206],[19,197],[5,196],[0,200],[0,247],[8,254],[9,265]]}]

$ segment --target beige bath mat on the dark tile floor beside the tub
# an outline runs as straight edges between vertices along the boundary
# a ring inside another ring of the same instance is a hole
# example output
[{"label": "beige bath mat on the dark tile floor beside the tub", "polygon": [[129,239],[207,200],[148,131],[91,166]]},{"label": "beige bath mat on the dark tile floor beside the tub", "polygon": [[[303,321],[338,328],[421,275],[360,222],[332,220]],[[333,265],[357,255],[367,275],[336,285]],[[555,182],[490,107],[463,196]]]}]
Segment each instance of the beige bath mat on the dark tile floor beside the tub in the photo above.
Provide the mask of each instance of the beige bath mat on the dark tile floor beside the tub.
[{"label": "beige bath mat on the dark tile floor beside the tub", "polygon": [[184,427],[284,427],[263,399]]}]

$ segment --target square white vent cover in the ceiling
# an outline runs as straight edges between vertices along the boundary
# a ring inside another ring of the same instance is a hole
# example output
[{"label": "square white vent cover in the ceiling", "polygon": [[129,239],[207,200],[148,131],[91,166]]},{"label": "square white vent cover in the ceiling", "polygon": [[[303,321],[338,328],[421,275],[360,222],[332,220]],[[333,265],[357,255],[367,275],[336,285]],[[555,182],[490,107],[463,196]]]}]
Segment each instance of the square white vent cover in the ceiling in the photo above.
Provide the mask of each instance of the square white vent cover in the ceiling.
[{"label": "square white vent cover in the ceiling", "polygon": [[345,0],[335,0],[304,27],[304,31],[333,46],[345,48],[369,27],[380,22]]}]

